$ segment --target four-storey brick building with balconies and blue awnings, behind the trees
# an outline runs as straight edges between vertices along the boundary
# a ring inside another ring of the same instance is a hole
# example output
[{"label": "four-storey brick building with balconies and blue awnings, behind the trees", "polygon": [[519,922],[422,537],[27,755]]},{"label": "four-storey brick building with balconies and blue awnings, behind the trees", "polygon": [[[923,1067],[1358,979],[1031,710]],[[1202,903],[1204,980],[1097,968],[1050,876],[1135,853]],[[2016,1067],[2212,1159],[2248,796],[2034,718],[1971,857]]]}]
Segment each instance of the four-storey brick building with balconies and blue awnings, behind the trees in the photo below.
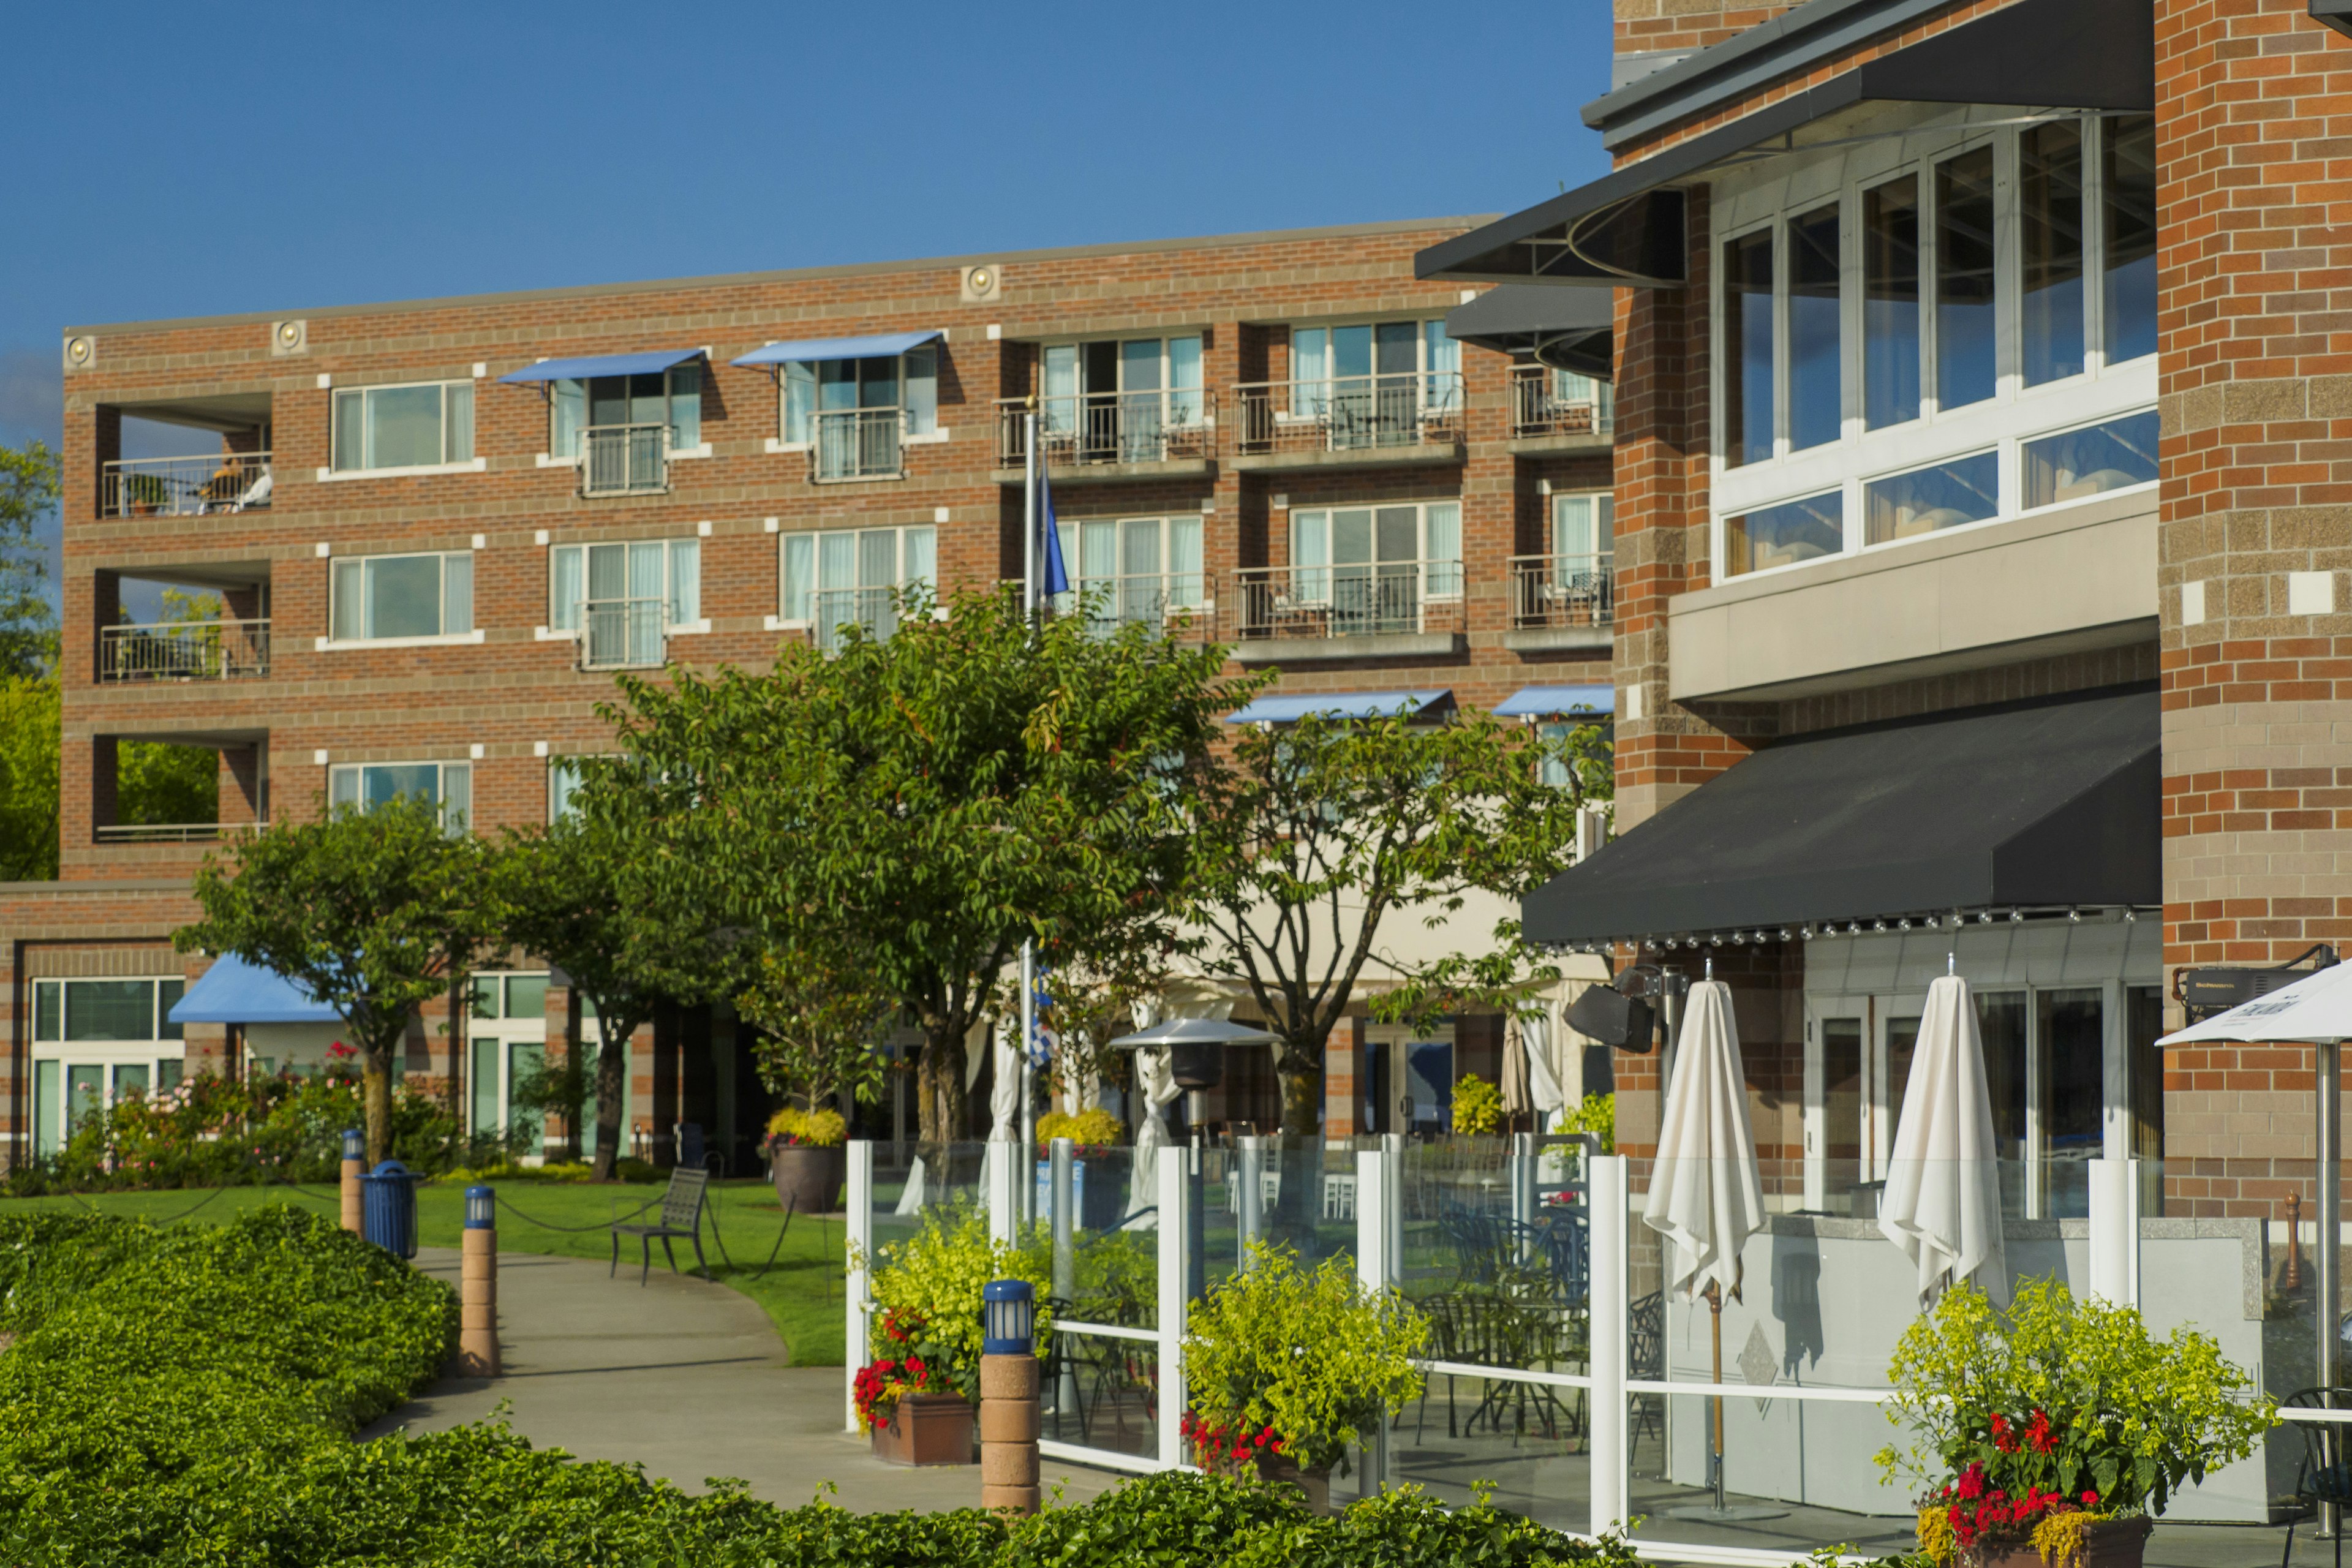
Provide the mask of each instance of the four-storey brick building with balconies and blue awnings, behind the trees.
[{"label": "four-storey brick building with balconies and blue awnings, behind the trees", "polygon": [[[223,830],[395,788],[541,823],[607,743],[612,665],[760,668],[880,588],[1018,576],[1033,395],[1073,574],[1141,592],[1117,614],[1183,609],[1284,691],[1606,689],[1606,590],[1550,592],[1566,498],[1606,581],[1606,390],[1444,331],[1479,289],[1414,254],[1470,223],[68,329],[61,879],[0,889],[0,1147],[125,1086],[315,1058],[327,1027],[165,1023],[207,969],[169,933]],[[125,461],[125,418],[191,456]],[[1409,588],[1331,609],[1291,569]],[[125,625],[125,583],[209,590],[216,623]],[[120,820],[127,741],[214,750],[219,820]],[[407,1058],[501,1126],[515,1060],[579,1027],[560,976],[510,973],[466,1058],[447,1009]],[[75,1009],[129,1006],[87,976],[162,985],[153,1039],[87,1037]],[[1465,1067],[1494,1072],[1489,1023]],[[708,1011],[637,1037],[630,1093],[652,1147],[699,1121],[739,1159],[764,1103]]]}]

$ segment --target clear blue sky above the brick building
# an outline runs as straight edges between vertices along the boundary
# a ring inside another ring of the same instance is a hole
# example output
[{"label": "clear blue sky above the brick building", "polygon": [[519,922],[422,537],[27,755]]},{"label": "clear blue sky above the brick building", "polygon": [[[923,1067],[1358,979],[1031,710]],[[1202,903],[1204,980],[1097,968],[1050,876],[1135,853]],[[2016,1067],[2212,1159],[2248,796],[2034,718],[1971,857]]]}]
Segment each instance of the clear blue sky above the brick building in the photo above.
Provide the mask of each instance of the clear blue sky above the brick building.
[{"label": "clear blue sky above the brick building", "polygon": [[[1508,212],[1609,0],[19,7],[0,442],[68,324]],[[183,440],[183,437],[179,437]]]}]

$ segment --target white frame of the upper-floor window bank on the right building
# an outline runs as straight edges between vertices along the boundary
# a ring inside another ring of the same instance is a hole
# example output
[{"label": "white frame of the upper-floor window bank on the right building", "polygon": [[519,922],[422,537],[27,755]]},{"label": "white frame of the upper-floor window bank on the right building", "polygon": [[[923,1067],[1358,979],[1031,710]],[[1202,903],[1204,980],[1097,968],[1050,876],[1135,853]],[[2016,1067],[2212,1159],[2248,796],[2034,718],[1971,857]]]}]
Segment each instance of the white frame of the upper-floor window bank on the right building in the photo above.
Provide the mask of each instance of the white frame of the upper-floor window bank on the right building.
[{"label": "white frame of the upper-floor window bank on the right building", "polygon": [[[1715,583],[1755,581],[1778,571],[1804,571],[1825,559],[1851,557],[1863,550],[1900,550],[1919,538],[1940,538],[1966,529],[1997,527],[2025,515],[2020,505],[2020,447],[2063,435],[2070,430],[2100,425],[2131,414],[2145,414],[2157,404],[2157,355],[2138,355],[2110,364],[2105,355],[2105,139],[2114,120],[2129,115],[2112,113],[2053,113],[2037,115],[2032,125],[2049,120],[2079,120],[2082,139],[2082,202],[2084,202],[2084,369],[2074,376],[2044,381],[2027,388],[2023,383],[2023,256],[2020,256],[2020,197],[2018,197],[2018,136],[2030,125],[1971,125],[1962,118],[1938,125],[1922,125],[1912,132],[1886,134],[1837,155],[1809,160],[1802,167],[1785,167],[1790,160],[1773,160],[1757,174],[1726,176],[1717,188],[1715,212],[1722,228],[1710,235],[1710,355],[1717,367],[1710,376],[1710,423],[1712,423],[1712,494],[1710,494],[1710,571]],[[1999,110],[1983,110],[1994,115]],[[1936,400],[1936,167],[1950,158],[1992,148],[1994,183],[1994,393],[1992,397],[1940,409]],[[1919,188],[1919,416],[1884,425],[1863,428],[1863,193],[1891,179],[1910,174]],[[1842,435],[1804,451],[1790,449],[1790,400],[1788,400],[1788,301],[1790,301],[1790,219],[1818,212],[1828,202],[1839,209],[1839,428]],[[1759,230],[1773,233],[1773,454],[1752,463],[1729,465],[1724,454],[1726,400],[1724,378],[1724,247]],[[1933,529],[1910,538],[1891,538],[1872,545],[1865,541],[1865,487],[1919,468],[1959,461],[1978,451],[1997,451],[1999,508],[1992,517]],[[2131,487],[2098,491],[2051,503],[2039,512],[2063,505],[2086,505],[2126,494],[2154,491],[2147,480]],[[1844,496],[1844,548],[1832,555],[1764,567],[1759,571],[1731,571],[1729,529],[1731,517],[1759,512],[1788,501],[1804,501],[1828,491]]]}]

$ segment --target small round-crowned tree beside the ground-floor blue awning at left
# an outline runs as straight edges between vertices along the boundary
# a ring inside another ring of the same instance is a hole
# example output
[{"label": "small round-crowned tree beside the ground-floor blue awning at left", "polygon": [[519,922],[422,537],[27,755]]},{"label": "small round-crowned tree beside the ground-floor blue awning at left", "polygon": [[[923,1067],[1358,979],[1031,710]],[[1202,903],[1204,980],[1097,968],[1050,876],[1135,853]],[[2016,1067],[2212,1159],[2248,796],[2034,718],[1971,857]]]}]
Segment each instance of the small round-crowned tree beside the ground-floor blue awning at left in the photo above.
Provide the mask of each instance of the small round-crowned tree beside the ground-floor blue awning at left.
[{"label": "small round-crowned tree beside the ground-floor blue awning at left", "polygon": [[336,806],[230,839],[195,875],[181,952],[235,952],[332,1006],[360,1051],[367,1159],[390,1135],[393,1058],[416,1009],[499,931],[492,856],[433,802]]}]

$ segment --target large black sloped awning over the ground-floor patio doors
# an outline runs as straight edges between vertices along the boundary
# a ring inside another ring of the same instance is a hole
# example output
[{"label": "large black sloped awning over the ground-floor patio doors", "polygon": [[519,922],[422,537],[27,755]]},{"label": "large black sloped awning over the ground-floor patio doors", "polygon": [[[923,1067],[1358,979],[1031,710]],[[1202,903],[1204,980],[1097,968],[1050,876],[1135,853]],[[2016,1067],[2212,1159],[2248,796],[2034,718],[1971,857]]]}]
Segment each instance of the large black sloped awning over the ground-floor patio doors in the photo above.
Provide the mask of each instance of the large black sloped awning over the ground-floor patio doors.
[{"label": "large black sloped awning over the ground-floor patio doors", "polygon": [[1534,943],[2164,900],[2154,689],[1771,745],[1526,896]]}]

